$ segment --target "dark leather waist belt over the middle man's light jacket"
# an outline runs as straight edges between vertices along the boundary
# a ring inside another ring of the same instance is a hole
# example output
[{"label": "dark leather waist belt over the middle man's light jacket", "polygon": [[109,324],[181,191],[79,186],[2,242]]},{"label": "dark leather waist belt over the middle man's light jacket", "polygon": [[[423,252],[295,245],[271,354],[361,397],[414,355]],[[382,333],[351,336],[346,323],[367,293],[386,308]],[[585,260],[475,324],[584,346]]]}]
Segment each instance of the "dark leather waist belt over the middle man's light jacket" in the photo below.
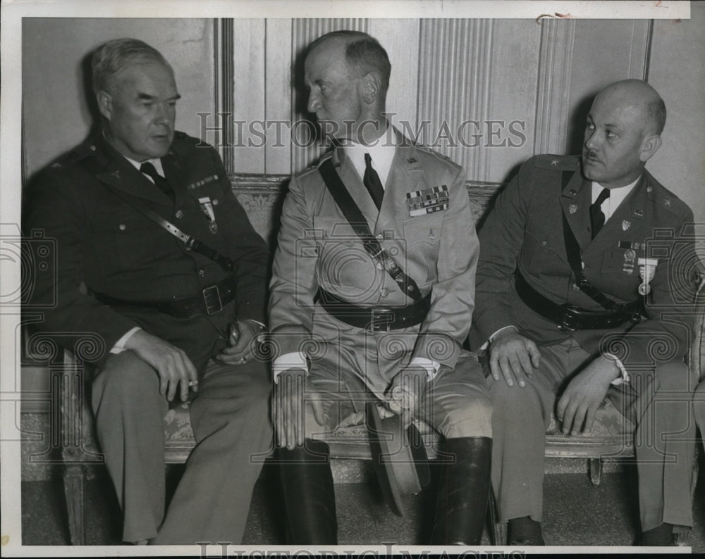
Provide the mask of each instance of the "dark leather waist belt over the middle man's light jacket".
[{"label": "dark leather waist belt over the middle man's light jacket", "polygon": [[406,307],[360,307],[319,289],[317,301],[333,317],[370,332],[389,332],[421,324],[431,306],[431,292]]}]

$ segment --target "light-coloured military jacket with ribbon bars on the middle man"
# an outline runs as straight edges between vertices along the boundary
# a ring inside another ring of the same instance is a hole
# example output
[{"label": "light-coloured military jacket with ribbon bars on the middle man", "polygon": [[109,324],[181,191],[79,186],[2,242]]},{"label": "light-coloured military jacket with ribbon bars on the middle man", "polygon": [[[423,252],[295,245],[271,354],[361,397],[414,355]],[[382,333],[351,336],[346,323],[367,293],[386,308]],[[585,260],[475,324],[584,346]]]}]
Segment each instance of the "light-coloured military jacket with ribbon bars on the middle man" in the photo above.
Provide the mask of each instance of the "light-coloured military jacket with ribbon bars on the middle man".
[{"label": "light-coloured military jacket with ribbon bars on the middle man", "polygon": [[[332,158],[369,230],[423,295],[431,291],[427,317],[415,327],[418,335],[405,337],[407,352],[452,368],[470,328],[479,251],[465,175],[448,158],[395,133],[403,145],[396,147],[379,212],[343,148],[322,161]],[[419,192],[433,198],[443,188],[447,208],[412,215],[409,198]],[[319,170],[312,168],[290,182],[274,258],[269,320],[280,353],[299,351],[310,336],[319,287],[358,306],[413,303],[364,251]]]}]

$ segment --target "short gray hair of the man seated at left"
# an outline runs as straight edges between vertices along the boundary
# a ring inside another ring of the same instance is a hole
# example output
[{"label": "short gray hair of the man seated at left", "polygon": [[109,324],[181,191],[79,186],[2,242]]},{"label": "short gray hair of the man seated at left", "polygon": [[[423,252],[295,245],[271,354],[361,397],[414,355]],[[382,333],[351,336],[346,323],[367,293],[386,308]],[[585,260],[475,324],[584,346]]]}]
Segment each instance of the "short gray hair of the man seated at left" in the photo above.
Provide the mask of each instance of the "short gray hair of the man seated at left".
[{"label": "short gray hair of the man seated at left", "polygon": [[111,80],[122,68],[131,63],[152,62],[174,71],[161,53],[139,39],[112,39],[103,43],[91,59],[93,92],[109,91]]}]

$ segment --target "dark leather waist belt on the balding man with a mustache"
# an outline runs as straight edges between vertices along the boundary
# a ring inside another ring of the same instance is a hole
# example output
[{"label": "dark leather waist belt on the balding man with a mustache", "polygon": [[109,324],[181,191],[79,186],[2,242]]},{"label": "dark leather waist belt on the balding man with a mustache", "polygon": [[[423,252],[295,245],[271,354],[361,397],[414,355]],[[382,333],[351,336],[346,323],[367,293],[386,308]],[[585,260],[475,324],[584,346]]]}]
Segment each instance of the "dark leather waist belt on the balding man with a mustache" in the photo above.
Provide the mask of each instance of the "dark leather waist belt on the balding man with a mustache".
[{"label": "dark leather waist belt on the balding man with a mustache", "polygon": [[546,299],[536,289],[531,287],[521,273],[517,273],[517,294],[526,306],[539,313],[544,318],[555,322],[561,330],[588,330],[601,328],[615,328],[625,322],[639,322],[639,309],[641,299],[630,303],[618,304],[613,311],[594,312],[584,310],[570,303],[558,305]]}]

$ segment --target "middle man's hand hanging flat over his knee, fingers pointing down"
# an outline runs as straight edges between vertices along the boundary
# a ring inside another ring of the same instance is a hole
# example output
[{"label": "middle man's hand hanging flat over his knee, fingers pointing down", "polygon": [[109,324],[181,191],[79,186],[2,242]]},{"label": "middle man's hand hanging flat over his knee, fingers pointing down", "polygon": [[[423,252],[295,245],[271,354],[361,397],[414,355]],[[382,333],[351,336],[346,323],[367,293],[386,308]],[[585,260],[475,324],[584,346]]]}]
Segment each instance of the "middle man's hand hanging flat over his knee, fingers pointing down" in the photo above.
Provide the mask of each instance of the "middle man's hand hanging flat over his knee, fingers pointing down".
[{"label": "middle man's hand hanging flat over his knee, fingers pointing down", "polygon": [[323,404],[319,398],[304,400],[306,388],[306,371],[287,369],[280,372],[274,385],[274,402],[272,413],[276,432],[276,444],[291,450],[302,446],[306,436],[306,403],[313,408],[314,417],[319,425],[326,424]]}]

